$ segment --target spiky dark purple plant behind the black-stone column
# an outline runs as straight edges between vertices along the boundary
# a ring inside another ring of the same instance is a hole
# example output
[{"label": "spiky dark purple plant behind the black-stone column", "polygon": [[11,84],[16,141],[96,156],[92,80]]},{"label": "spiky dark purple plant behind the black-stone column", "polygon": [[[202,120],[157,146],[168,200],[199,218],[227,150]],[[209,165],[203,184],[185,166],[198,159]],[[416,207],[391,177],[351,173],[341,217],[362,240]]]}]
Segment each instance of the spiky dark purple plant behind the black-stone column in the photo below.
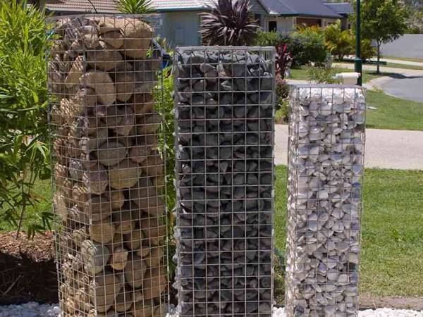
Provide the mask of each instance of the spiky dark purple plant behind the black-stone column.
[{"label": "spiky dark purple plant behind the black-stone column", "polygon": [[201,13],[200,35],[205,45],[251,45],[259,26],[249,0],[219,0],[212,13]]}]

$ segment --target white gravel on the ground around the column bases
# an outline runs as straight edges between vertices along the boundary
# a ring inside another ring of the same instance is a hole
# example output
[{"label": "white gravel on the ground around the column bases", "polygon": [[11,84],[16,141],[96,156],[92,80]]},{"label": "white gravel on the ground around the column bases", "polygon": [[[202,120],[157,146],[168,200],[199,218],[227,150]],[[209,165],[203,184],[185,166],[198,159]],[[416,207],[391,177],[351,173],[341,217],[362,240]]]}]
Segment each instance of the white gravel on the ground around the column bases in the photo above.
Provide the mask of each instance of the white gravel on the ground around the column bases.
[{"label": "white gravel on the ground around the column bases", "polygon": [[[0,306],[0,317],[56,317],[60,316],[60,309],[56,305],[40,305],[34,302],[22,305]],[[285,309],[275,308],[274,317],[285,317]],[[359,317],[423,317],[422,311],[407,309],[368,309],[360,311]],[[177,317],[168,315],[168,317]]]}]

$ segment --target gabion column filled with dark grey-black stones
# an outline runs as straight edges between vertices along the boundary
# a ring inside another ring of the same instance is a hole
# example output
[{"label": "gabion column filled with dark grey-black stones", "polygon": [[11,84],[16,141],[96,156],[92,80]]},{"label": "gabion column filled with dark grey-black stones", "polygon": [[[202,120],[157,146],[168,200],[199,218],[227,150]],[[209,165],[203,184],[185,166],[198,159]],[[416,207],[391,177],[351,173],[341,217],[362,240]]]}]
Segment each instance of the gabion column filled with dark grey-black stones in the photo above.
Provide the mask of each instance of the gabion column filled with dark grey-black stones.
[{"label": "gabion column filled with dark grey-black stones", "polygon": [[271,316],[274,49],[177,49],[180,316]]}]

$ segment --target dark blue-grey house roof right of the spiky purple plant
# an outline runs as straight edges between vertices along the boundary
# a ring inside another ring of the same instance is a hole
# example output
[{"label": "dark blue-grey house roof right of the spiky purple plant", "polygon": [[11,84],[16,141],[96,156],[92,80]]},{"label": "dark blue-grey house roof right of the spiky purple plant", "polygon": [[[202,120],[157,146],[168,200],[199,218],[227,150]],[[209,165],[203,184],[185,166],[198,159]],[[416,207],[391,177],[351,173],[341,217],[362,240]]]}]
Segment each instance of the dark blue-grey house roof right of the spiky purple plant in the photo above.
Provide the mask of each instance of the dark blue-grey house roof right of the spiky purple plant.
[{"label": "dark blue-grey house roof right of the spiky purple plant", "polygon": [[342,18],[321,0],[262,0],[271,15],[305,15],[321,18]]}]

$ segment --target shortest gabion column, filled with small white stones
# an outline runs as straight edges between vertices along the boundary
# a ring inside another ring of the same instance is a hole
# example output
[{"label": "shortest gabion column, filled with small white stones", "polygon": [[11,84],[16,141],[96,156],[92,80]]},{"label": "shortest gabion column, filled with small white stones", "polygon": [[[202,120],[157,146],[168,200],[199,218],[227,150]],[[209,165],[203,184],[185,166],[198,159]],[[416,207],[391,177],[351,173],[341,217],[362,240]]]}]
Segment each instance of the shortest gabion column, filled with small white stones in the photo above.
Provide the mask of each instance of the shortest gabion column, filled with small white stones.
[{"label": "shortest gabion column, filled with small white stones", "polygon": [[357,316],[364,91],[291,89],[287,316]]}]

